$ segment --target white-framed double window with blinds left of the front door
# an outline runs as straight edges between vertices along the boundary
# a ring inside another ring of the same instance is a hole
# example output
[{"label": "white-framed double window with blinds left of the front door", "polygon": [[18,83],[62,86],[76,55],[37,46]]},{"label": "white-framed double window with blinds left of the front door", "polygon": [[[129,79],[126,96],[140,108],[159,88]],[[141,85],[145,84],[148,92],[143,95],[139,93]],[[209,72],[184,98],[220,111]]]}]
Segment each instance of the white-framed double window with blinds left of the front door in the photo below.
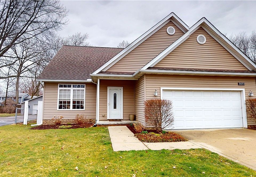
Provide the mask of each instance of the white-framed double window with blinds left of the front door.
[{"label": "white-framed double window with blinds left of the front door", "polygon": [[84,84],[59,84],[58,109],[78,110],[85,106]]}]

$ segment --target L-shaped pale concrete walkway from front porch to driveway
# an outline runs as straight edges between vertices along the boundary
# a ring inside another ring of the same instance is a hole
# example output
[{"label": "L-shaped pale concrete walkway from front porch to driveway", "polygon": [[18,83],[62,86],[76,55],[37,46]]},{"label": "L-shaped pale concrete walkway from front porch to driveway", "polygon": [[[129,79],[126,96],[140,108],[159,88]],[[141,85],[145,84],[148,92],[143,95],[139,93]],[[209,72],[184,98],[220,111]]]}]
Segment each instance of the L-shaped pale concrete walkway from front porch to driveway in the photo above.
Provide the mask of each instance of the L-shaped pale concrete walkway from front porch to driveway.
[{"label": "L-shaped pale concrete walkway from front porch to driveway", "polygon": [[192,142],[142,143],[126,126],[110,126],[108,128],[114,151],[201,148]]}]

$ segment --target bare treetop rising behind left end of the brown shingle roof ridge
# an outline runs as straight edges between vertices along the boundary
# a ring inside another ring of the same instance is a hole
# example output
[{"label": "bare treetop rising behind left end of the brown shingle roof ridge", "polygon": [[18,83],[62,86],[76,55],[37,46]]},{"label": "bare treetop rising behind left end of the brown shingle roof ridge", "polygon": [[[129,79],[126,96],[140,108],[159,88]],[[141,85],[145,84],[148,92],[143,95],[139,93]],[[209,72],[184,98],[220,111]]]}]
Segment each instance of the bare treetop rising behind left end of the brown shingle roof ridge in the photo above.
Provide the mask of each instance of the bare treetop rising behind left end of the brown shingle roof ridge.
[{"label": "bare treetop rising behind left end of the brown shingle roof ridge", "polygon": [[69,35],[67,37],[60,37],[57,36],[53,39],[52,43],[52,49],[54,52],[54,55],[59,51],[59,49],[63,45],[69,45],[69,46],[91,46],[89,42],[87,42],[87,39],[89,38],[89,35],[87,33],[81,34],[81,33],[75,33],[73,35]]}]

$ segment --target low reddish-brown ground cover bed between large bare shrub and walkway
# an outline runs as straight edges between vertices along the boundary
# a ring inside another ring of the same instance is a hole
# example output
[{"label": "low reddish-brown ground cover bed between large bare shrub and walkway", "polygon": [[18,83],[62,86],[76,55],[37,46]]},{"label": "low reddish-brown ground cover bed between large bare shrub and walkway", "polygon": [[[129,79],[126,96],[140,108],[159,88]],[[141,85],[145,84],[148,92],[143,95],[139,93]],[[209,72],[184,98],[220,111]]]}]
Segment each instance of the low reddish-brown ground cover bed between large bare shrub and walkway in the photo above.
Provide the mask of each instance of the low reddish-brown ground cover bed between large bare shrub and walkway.
[{"label": "low reddish-brown ground cover bed between large bare shrub and walkway", "polygon": [[142,142],[155,143],[155,142],[179,142],[187,141],[183,136],[175,132],[166,132],[166,133],[154,133],[149,132],[146,134],[137,133],[135,136]]}]

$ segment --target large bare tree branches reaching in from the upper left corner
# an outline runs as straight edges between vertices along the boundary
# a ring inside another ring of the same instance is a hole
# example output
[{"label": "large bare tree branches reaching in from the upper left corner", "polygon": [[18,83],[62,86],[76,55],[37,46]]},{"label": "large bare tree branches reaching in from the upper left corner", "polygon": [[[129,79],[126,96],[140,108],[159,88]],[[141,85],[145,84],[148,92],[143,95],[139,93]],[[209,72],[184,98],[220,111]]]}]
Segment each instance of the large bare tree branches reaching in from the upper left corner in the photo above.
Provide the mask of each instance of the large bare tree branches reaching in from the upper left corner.
[{"label": "large bare tree branches reaching in from the upper left corner", "polygon": [[11,47],[31,38],[45,41],[67,23],[66,15],[59,1],[1,1],[0,68],[17,62],[8,54]]}]

